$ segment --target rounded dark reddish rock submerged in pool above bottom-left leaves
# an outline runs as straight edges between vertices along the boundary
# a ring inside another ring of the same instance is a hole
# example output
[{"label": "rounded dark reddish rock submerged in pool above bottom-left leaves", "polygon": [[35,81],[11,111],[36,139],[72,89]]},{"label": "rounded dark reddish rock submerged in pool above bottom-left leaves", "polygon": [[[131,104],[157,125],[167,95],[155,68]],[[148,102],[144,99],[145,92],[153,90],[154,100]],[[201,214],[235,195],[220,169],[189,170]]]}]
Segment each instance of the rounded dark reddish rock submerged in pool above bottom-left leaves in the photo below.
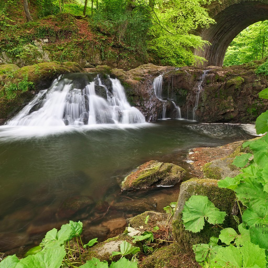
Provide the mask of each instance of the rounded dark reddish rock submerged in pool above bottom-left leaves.
[{"label": "rounded dark reddish rock submerged in pool above bottom-left leaves", "polygon": [[69,218],[80,210],[91,211],[94,205],[90,196],[72,196],[61,204],[57,216],[61,219]]}]

